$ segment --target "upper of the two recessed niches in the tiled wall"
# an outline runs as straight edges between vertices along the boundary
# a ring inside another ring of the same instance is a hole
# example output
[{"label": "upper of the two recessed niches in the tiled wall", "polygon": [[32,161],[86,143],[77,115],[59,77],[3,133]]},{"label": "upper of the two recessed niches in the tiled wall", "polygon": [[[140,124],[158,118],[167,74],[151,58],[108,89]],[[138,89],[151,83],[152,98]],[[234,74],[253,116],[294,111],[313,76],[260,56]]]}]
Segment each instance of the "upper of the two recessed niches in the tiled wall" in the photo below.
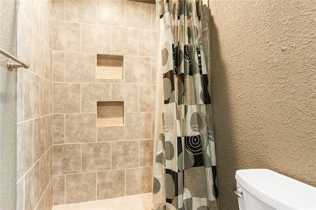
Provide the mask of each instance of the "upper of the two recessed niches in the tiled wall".
[{"label": "upper of the two recessed niches in the tiled wall", "polygon": [[122,80],[123,56],[97,54],[97,79]]}]

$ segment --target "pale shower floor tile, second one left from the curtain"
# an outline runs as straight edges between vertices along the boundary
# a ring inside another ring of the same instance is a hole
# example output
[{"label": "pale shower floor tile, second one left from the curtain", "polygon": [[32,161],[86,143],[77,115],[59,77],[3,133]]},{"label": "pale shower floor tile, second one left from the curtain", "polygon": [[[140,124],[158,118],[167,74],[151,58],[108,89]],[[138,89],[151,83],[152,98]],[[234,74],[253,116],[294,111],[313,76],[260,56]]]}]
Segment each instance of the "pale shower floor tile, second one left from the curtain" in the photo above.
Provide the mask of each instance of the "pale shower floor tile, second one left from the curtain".
[{"label": "pale shower floor tile, second one left from the curtain", "polygon": [[142,204],[137,196],[128,196],[122,198],[116,198],[111,200],[112,209],[114,210],[127,210],[142,208]]}]

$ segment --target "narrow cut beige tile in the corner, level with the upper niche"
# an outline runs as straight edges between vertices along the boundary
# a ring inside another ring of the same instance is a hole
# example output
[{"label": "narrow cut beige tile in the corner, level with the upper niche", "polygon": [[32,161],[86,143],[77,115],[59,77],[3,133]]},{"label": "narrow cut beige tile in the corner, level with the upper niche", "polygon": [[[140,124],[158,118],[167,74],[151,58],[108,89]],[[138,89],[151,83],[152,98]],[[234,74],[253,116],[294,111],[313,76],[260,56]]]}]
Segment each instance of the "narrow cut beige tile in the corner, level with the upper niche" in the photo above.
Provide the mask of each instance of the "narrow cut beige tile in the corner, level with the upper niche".
[{"label": "narrow cut beige tile in the corner, level with the upper niche", "polygon": [[65,53],[53,52],[53,81],[65,81]]}]

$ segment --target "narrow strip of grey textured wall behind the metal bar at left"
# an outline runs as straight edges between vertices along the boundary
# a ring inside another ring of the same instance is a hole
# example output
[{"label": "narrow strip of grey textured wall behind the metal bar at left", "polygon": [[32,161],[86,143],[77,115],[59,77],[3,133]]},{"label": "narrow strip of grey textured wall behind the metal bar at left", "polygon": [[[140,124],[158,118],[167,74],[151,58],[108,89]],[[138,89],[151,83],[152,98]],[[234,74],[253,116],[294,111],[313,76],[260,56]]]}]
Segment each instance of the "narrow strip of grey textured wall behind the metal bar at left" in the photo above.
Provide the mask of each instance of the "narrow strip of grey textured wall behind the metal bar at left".
[{"label": "narrow strip of grey textured wall behind the metal bar at left", "polygon": [[[0,48],[16,55],[15,1],[0,1]],[[16,71],[0,55],[0,209],[15,209]]]}]

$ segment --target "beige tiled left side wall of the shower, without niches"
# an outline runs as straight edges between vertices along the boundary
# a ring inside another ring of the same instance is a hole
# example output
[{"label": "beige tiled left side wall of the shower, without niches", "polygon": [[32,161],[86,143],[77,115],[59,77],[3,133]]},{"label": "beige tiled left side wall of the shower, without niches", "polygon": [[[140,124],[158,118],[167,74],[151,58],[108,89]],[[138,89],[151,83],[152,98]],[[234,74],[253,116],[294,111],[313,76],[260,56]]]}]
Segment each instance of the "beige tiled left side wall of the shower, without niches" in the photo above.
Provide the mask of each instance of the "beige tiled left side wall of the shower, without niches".
[{"label": "beige tiled left side wall of the shower, without niches", "polygon": [[53,206],[52,2],[17,1],[17,210]]}]

